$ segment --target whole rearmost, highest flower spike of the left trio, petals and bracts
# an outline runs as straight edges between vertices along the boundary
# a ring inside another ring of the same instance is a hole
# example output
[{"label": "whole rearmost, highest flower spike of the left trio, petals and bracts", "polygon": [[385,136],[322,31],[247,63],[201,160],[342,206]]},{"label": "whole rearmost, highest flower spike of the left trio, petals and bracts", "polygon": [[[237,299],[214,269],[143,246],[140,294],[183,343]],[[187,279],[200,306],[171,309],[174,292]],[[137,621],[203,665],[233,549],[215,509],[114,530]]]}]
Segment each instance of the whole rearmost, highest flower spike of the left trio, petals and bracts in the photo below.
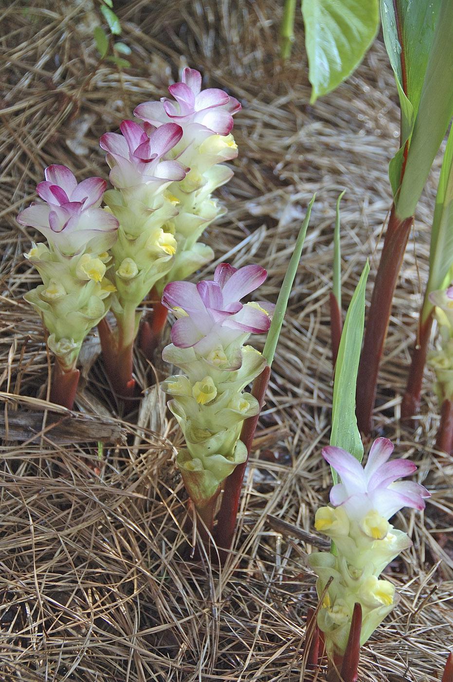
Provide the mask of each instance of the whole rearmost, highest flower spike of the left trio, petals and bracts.
[{"label": "whole rearmost, highest flower spike of the left trio, petals and bracts", "polygon": [[168,187],[176,211],[165,225],[174,235],[177,249],[170,271],[157,282],[159,293],[168,282],[187,278],[213,258],[210,247],[198,239],[223,212],[212,193],[230,180],[232,170],[219,164],[238,153],[231,130],[239,102],[217,88],[202,91],[201,85],[201,74],[186,68],[182,82],[169,87],[176,102],[162,98],[139,104],[134,110],[144,121],[144,130],[178,125],[182,131],[172,158],[183,164],[187,175]]}]

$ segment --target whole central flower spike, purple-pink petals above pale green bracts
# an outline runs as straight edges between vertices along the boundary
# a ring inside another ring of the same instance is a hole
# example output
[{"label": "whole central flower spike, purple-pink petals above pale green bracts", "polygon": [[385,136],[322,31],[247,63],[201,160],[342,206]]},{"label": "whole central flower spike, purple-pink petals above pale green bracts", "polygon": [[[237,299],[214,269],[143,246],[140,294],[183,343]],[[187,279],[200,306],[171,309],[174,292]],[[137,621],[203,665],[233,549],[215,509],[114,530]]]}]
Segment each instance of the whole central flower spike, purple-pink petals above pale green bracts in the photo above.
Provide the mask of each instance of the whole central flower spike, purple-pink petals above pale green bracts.
[{"label": "whole central flower spike, purple-pink petals above pale green bracts", "polygon": [[236,269],[221,263],[213,281],[172,282],[163,291],[162,302],[177,319],[162,357],[185,372],[170,376],[163,389],[173,396],[169,407],[185,436],[187,449],[177,462],[197,507],[206,505],[247,458],[240,428],[260,405],[243,389],[266,363],[244,344],[252,332],[268,331],[272,306],[240,299],[266,274],[259,265]]}]

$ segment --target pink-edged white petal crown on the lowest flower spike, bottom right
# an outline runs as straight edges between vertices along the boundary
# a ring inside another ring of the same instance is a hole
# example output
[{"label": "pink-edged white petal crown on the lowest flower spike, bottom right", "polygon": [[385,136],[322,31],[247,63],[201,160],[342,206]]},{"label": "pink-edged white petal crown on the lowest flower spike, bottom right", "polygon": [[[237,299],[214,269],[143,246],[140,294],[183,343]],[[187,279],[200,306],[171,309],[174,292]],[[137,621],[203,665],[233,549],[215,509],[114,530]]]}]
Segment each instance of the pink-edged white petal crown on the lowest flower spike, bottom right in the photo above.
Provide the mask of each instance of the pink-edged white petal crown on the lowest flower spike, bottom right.
[{"label": "pink-edged white petal crown on the lowest flower spike, bottom right", "polygon": [[424,509],[430,493],[413,481],[397,481],[417,467],[409,460],[388,462],[391,441],[378,438],[371,446],[366,465],[341,447],[324,447],[322,456],[341,476],[341,483],[330,490],[330,503],[343,507],[350,519],[360,520],[370,511],[389,519],[403,507]]}]

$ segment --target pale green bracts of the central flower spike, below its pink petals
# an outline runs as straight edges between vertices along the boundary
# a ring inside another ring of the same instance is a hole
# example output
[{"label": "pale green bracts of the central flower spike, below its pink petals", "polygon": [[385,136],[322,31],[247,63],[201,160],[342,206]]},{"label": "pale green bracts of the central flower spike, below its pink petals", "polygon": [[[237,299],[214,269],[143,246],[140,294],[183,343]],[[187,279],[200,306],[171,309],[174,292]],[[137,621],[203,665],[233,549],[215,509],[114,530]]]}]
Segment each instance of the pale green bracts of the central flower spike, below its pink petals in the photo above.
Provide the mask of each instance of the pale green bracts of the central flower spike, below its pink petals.
[{"label": "pale green bracts of the central flower spike, below its pink petals", "polygon": [[257,400],[243,389],[261,374],[266,362],[251,346],[241,349],[241,342],[238,339],[233,347],[224,349],[221,361],[173,344],[162,354],[166,362],[185,372],[170,376],[162,388],[173,396],[168,406],[187,446],[179,451],[176,462],[191,499],[199,507],[216,494],[237,464],[247,460],[247,448],[238,440],[240,430],[245,419],[260,412]]}]

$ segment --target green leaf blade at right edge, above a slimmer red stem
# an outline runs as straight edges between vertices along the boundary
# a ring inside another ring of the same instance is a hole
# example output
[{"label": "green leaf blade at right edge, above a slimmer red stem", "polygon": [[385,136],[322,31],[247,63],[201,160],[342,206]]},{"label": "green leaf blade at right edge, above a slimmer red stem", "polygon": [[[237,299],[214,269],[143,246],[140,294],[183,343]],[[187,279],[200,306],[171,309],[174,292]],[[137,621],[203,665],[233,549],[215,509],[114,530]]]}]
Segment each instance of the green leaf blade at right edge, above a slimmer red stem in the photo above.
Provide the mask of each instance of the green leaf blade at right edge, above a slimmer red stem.
[{"label": "green leaf blade at right edge, above a slimmer red stem", "polygon": [[437,187],[431,246],[429,252],[429,278],[423,303],[422,323],[433,309],[428,299],[431,291],[450,284],[450,267],[453,265],[453,127],[443,155],[439,186]]}]

